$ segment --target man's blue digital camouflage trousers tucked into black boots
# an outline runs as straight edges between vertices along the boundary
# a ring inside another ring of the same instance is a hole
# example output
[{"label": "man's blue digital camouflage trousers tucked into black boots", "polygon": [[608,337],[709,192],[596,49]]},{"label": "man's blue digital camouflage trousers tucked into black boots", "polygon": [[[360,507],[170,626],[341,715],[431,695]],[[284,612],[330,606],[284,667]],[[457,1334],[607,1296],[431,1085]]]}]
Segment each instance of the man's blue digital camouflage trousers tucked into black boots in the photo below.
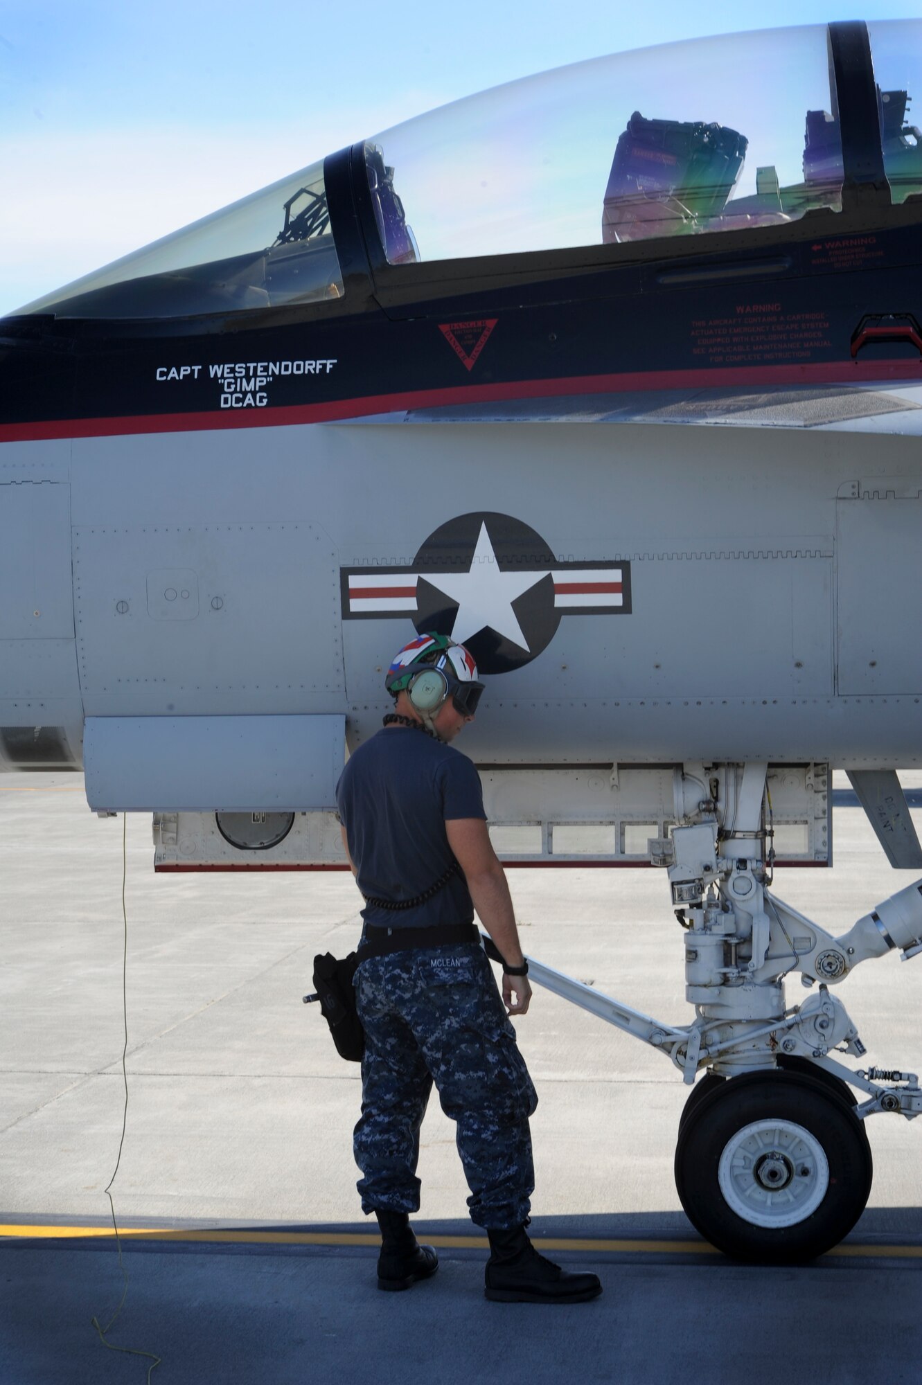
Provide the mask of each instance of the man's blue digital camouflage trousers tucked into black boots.
[{"label": "man's blue digital camouflage trousers tucked into black boots", "polygon": [[370,957],[354,983],[365,1030],[354,1133],[363,1210],[418,1212],[419,1126],[435,1082],[457,1126],[472,1220],[519,1226],[534,1188],[537,1094],[483,949]]}]

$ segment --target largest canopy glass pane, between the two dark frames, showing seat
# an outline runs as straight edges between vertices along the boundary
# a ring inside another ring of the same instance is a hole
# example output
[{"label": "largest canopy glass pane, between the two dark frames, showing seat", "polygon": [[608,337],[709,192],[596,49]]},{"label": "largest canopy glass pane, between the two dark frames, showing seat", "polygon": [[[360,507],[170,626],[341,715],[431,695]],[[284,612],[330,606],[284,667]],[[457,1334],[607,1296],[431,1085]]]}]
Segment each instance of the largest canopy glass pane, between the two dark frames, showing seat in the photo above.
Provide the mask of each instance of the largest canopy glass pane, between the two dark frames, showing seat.
[{"label": "largest canopy glass pane, between the two dark frames, showing seat", "polygon": [[577,62],[370,140],[378,229],[406,263],[839,209],[836,111],[825,25]]}]

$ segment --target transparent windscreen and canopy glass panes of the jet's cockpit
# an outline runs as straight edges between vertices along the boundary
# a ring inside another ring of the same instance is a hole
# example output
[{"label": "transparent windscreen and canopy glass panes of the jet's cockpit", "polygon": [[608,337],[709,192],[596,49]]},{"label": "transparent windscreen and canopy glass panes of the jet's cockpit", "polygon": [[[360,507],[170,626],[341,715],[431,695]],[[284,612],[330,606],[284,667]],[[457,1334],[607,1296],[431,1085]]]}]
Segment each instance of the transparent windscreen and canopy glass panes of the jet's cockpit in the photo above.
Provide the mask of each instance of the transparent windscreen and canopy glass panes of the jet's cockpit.
[{"label": "transparent windscreen and canopy glass panes of the jet's cockpit", "polygon": [[[897,205],[922,194],[911,116],[922,21],[867,32],[878,161]],[[831,29],[808,25],[597,58],[455,101],[367,140],[359,159],[353,150],[365,241],[378,240],[370,258],[386,271],[836,213],[849,100],[838,87]],[[165,319],[335,303],[343,208],[328,194],[317,162],[21,312]]]}]

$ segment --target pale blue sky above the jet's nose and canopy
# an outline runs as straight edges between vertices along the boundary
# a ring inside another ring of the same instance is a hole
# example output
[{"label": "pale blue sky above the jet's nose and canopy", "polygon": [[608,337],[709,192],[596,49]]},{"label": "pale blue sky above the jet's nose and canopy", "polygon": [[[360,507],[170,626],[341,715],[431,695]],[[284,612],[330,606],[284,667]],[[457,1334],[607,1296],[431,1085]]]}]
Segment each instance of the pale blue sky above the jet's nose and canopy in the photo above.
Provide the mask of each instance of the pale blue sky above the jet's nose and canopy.
[{"label": "pale blue sky above the jet's nose and canopy", "polygon": [[921,14],[922,0],[0,0],[0,313],[500,82],[703,33]]}]

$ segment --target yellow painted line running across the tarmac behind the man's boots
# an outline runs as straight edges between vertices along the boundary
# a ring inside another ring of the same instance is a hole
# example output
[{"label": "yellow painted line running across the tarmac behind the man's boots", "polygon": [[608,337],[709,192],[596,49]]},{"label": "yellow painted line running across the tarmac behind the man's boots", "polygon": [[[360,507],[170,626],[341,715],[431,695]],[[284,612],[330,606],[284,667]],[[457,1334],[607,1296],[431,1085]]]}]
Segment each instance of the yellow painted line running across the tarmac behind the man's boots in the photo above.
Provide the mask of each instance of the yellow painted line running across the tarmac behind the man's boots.
[{"label": "yellow painted line running across the tarmac behind the man's boots", "polygon": [[[215,1227],[119,1227],[125,1241],[209,1241],[224,1245],[361,1245],[378,1248],[381,1237],[368,1231],[234,1231]],[[109,1226],[0,1226],[0,1237],[22,1241],[114,1240]],[[446,1251],[486,1251],[485,1235],[426,1235]],[[706,1241],[609,1241],[587,1237],[540,1237],[541,1251],[619,1252],[627,1255],[720,1255]],[[922,1245],[836,1245],[826,1255],[849,1259],[922,1259]]]}]

